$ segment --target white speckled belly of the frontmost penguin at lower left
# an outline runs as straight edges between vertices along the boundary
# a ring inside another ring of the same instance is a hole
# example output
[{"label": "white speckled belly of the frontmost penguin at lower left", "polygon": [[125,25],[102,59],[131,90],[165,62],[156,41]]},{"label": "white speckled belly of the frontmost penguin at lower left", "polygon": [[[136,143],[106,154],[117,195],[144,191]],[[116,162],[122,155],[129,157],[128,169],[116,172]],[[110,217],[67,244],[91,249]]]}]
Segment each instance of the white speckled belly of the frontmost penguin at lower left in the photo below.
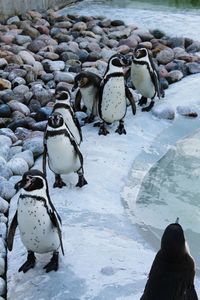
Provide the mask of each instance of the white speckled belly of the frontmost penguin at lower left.
[{"label": "white speckled belly of the frontmost penguin at lower left", "polygon": [[17,219],[21,240],[27,250],[46,253],[59,248],[57,229],[53,226],[43,201],[31,197],[19,198]]}]

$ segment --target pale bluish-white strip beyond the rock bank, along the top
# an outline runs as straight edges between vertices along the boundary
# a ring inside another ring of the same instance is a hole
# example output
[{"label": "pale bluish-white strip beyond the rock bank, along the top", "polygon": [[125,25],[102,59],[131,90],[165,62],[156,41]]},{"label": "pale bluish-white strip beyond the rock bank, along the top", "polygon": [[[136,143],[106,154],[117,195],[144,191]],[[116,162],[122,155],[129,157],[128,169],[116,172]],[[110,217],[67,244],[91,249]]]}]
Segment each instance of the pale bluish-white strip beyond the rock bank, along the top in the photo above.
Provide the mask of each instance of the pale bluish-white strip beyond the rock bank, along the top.
[{"label": "pale bluish-white strip beyond the rock bank, along the top", "polygon": [[[179,6],[181,1],[175,0],[164,1],[164,3],[153,2],[152,4],[147,1],[85,0],[70,8],[62,9],[60,14],[102,15],[111,19],[124,20],[126,24],[135,24],[139,28],[159,28],[168,35],[186,36],[200,40],[200,9],[194,9],[194,6],[193,9],[190,9],[188,5]],[[176,7],[167,5],[170,2],[177,2]]]}]

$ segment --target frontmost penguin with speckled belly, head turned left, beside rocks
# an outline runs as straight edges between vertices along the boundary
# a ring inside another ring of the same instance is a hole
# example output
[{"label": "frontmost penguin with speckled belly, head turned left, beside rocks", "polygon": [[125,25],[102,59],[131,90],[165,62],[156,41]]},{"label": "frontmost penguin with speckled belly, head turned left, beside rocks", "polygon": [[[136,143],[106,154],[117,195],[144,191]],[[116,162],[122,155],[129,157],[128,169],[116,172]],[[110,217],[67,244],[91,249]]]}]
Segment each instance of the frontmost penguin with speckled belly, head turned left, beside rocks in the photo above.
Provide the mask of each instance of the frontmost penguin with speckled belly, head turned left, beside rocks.
[{"label": "frontmost penguin with speckled belly, head turned left, beside rocks", "polygon": [[46,272],[57,271],[59,265],[59,248],[64,255],[61,219],[53,206],[46,178],[39,170],[25,172],[22,180],[15,185],[20,190],[17,211],[11,221],[7,246],[11,251],[15,230],[19,226],[22,243],[28,251],[27,261],[19,268],[19,272],[27,272],[34,268],[34,253],[53,251],[50,262],[44,267]]}]

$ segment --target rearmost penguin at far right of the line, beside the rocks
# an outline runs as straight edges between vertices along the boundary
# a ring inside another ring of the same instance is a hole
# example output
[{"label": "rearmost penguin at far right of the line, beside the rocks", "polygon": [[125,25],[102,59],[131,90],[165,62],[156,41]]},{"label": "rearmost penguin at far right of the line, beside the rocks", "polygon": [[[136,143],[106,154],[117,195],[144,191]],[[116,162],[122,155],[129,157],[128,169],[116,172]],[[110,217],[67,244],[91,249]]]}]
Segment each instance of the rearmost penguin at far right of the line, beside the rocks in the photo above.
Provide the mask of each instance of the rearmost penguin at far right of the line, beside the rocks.
[{"label": "rearmost penguin at far right of the line, beside the rocks", "polygon": [[156,96],[164,97],[164,91],[161,88],[159,74],[151,58],[148,49],[141,45],[135,48],[131,60],[131,80],[136,90],[142,95],[139,105],[146,105],[148,98],[151,102],[143,107],[142,111],[150,111],[154,106]]}]

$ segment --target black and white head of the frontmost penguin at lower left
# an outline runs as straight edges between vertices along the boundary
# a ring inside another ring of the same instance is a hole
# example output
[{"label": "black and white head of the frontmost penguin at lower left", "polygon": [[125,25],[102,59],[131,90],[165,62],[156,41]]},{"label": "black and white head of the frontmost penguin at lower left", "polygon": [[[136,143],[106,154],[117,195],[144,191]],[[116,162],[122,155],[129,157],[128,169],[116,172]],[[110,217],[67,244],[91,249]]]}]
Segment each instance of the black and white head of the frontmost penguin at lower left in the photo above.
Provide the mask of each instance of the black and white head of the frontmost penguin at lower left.
[{"label": "black and white head of the frontmost penguin at lower left", "polygon": [[15,184],[15,189],[18,191],[23,188],[26,191],[42,189],[44,187],[44,175],[39,170],[30,170],[24,173],[22,180]]}]

